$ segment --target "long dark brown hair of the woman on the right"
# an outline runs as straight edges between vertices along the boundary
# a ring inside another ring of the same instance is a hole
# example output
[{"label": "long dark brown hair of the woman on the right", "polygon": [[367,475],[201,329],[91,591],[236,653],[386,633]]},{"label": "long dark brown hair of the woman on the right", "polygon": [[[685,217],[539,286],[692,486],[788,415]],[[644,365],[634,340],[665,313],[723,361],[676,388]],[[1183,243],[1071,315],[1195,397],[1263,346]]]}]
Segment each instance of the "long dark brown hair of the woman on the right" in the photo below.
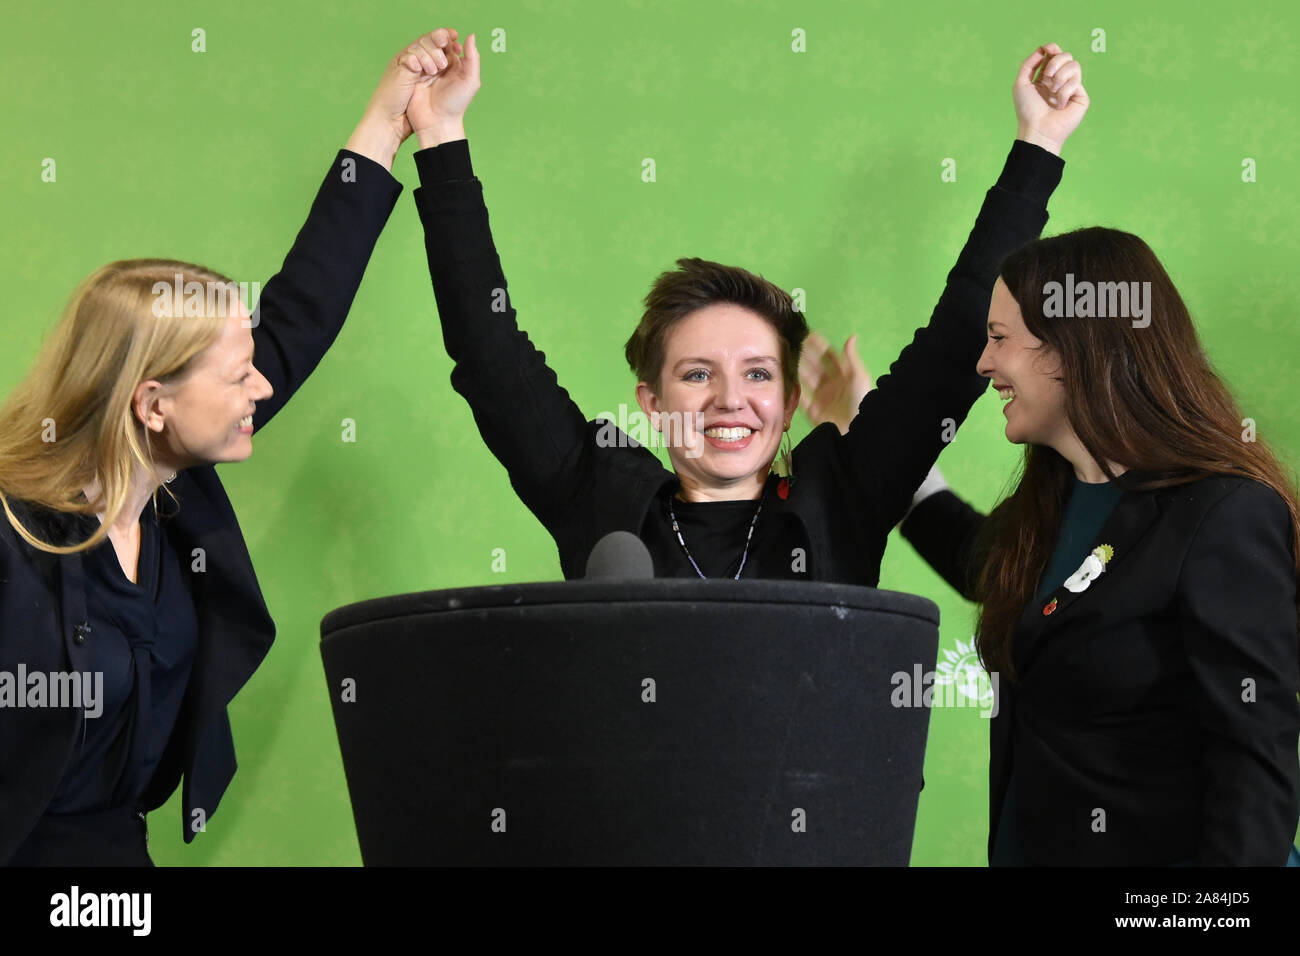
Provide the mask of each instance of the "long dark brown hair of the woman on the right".
[{"label": "long dark brown hair of the woman on the right", "polygon": [[[1066,418],[1106,477],[1134,490],[1212,475],[1268,485],[1291,511],[1300,578],[1294,483],[1265,442],[1243,441],[1242,411],[1210,367],[1187,306],[1147,243],[1114,229],[1079,229],[1013,252],[1000,273],[1024,326],[1060,359]],[[1130,317],[1061,315],[1048,290],[1052,282],[1065,286],[1067,276],[1075,287],[1084,281],[1093,287],[1149,282],[1149,312],[1140,320],[1149,325],[1134,326],[1131,302]],[[1128,471],[1117,479],[1108,462]],[[1056,545],[1071,473],[1070,462],[1054,449],[1027,445],[1015,489],[984,523],[976,646],[987,669],[1011,680],[1015,624]]]}]

